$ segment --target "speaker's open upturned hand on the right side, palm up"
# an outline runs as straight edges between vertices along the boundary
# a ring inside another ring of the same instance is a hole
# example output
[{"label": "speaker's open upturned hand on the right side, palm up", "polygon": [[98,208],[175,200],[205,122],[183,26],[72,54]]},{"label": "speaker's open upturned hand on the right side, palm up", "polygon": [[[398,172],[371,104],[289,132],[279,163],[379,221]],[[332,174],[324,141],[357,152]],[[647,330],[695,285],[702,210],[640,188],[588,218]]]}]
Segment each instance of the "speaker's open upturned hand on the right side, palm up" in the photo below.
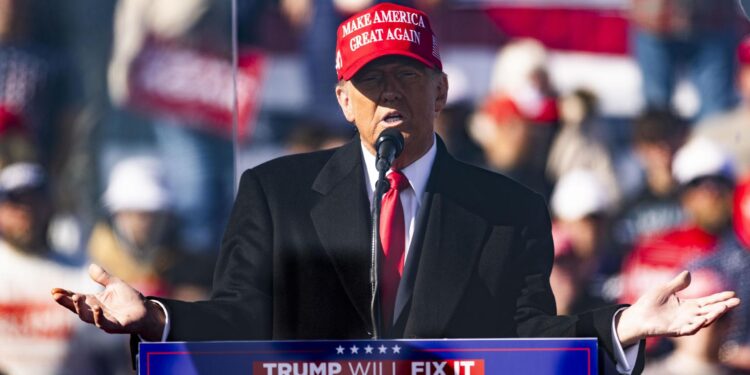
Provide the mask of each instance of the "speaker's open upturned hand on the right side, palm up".
[{"label": "speaker's open upturned hand on the right side, palm up", "polygon": [[716,321],[740,304],[734,292],[680,299],[677,292],[690,285],[690,273],[683,271],[670,282],[649,290],[625,309],[617,324],[623,347],[650,336],[687,336]]}]

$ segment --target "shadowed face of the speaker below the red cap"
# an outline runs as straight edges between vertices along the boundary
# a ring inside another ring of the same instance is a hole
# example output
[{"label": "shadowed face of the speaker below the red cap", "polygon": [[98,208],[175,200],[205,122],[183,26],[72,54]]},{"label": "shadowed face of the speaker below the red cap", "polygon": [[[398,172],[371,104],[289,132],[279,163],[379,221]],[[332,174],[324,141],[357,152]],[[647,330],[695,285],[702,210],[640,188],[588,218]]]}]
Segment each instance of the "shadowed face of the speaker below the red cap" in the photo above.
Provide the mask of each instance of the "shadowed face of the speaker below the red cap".
[{"label": "shadowed face of the speaker below the red cap", "polygon": [[434,121],[445,107],[448,80],[417,60],[387,56],[365,65],[351,80],[336,87],[341,110],[357,127],[370,152],[378,135],[396,128],[404,136],[404,151],[394,161],[403,168],[432,146]]}]

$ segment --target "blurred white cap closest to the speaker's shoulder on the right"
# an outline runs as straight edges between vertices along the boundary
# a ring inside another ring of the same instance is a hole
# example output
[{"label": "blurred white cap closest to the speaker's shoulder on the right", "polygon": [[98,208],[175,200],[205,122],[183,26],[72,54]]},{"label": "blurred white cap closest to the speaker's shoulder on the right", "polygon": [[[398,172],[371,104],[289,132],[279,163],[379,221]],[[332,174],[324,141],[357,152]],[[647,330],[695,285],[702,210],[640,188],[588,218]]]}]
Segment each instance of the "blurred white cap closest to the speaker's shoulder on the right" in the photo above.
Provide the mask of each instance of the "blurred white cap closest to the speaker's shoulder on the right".
[{"label": "blurred white cap closest to the speaker's shoulder on the right", "polygon": [[610,196],[604,184],[587,170],[565,173],[552,193],[552,213],[563,220],[579,220],[609,210]]}]

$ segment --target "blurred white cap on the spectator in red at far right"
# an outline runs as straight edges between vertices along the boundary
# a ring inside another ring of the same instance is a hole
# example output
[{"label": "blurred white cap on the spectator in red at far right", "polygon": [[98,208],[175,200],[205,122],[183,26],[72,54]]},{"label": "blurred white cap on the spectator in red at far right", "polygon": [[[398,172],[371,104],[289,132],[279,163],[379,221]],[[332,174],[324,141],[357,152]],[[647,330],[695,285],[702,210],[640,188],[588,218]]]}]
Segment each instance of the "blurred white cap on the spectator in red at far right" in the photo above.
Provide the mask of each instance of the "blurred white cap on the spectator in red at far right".
[{"label": "blurred white cap on the spectator in red at far right", "polygon": [[701,177],[723,177],[734,181],[729,154],[704,137],[695,137],[674,155],[672,174],[680,185]]}]

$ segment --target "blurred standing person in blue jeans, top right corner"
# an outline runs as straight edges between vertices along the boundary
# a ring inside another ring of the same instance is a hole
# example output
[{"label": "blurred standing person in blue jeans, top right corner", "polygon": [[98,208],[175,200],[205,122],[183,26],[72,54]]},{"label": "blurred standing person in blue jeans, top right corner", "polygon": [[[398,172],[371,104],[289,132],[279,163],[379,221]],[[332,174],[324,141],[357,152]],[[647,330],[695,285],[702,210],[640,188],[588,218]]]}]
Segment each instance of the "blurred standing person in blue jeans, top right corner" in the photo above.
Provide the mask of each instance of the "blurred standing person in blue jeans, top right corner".
[{"label": "blurred standing person in blue jeans, top right corner", "polygon": [[734,105],[735,1],[631,0],[630,20],[647,107],[669,110],[682,72],[700,98],[699,118]]}]

